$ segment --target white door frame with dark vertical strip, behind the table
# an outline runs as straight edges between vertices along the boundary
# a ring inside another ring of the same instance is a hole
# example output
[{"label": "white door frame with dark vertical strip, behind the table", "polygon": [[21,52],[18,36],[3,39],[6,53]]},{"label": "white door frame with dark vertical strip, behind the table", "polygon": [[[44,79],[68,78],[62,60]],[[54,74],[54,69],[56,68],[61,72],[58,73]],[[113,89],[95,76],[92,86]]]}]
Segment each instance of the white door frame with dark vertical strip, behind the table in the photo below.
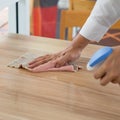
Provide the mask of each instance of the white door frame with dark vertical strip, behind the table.
[{"label": "white door frame with dark vertical strip, behind the table", "polygon": [[10,33],[30,34],[29,0],[0,0],[0,10],[8,7]]}]

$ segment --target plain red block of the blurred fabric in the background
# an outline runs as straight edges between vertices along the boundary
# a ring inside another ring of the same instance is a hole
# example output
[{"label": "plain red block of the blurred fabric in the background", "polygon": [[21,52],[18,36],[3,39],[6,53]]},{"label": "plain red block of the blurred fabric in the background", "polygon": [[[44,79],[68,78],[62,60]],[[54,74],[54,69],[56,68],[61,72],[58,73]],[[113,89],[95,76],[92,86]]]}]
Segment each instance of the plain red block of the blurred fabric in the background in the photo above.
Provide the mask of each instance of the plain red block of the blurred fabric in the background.
[{"label": "plain red block of the blurred fabric in the background", "polygon": [[55,38],[57,24],[57,6],[41,8],[42,36]]}]

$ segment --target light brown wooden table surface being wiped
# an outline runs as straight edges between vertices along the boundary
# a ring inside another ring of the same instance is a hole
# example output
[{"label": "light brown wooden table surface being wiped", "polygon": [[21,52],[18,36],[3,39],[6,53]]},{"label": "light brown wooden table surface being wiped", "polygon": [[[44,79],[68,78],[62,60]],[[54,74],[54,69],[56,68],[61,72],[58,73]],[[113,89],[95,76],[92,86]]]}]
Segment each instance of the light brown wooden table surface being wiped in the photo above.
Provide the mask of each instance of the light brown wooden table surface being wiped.
[{"label": "light brown wooden table surface being wiped", "polygon": [[83,52],[79,72],[31,73],[7,67],[26,52],[57,52],[64,40],[8,34],[0,36],[0,120],[120,120],[120,87],[100,86],[86,71],[86,59],[98,48]]}]

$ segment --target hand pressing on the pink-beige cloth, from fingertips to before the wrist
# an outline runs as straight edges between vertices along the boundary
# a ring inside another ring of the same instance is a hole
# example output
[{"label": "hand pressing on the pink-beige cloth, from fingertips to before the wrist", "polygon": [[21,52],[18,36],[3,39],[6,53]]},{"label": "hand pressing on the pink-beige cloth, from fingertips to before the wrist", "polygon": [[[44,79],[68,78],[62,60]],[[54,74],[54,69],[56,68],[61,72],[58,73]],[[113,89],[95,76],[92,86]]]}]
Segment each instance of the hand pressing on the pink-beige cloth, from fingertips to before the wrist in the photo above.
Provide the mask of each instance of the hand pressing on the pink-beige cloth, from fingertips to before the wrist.
[{"label": "hand pressing on the pink-beige cloth, from fingertips to before the wrist", "polygon": [[81,51],[79,49],[73,49],[68,47],[67,49],[55,53],[55,54],[47,54],[45,56],[41,56],[36,58],[34,61],[29,63],[29,68],[34,69],[41,64],[45,64],[49,61],[55,61],[55,67],[61,67],[66,64],[69,64],[72,61],[75,61],[80,57]]}]

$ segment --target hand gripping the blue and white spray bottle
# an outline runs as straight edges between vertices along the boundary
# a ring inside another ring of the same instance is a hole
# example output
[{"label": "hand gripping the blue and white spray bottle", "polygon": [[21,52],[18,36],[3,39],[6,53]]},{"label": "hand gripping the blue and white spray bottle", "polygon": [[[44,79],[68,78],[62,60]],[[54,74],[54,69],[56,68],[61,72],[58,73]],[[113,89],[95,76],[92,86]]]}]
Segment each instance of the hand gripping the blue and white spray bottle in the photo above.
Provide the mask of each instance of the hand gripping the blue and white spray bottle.
[{"label": "hand gripping the blue and white spray bottle", "polygon": [[94,77],[100,79],[100,84],[103,86],[109,82],[120,84],[120,46],[113,49],[113,53],[94,74]]}]

